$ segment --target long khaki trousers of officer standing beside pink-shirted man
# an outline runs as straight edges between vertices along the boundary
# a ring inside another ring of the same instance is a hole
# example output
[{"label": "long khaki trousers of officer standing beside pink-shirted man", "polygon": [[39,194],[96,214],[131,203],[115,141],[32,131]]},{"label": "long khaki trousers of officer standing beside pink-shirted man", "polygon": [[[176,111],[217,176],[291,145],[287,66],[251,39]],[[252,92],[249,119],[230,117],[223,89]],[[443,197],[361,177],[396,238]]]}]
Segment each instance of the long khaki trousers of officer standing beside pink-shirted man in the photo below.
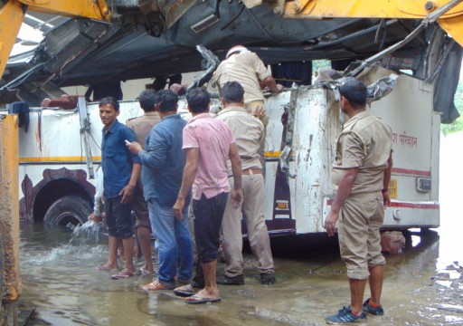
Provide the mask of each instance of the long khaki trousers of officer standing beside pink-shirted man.
[{"label": "long khaki trousers of officer standing beside pink-shirted man", "polygon": [[[229,177],[231,188],[233,177]],[[270,249],[269,232],[262,213],[264,199],[264,178],[261,174],[243,174],[241,184],[244,193],[241,209],[234,208],[231,198],[227,201],[222,220],[222,249],[227,266],[225,275],[234,277],[242,274],[241,216],[248,227],[252,254],[259,263],[260,273],[274,273],[273,257]]]}]

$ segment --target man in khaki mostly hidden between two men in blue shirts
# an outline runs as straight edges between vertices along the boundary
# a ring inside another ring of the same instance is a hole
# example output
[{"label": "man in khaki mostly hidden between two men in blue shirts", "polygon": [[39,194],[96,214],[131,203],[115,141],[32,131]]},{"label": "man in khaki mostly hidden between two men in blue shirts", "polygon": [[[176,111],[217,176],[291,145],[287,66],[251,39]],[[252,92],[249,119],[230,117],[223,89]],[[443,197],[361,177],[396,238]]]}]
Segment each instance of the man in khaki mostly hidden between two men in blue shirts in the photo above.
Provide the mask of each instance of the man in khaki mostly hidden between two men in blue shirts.
[{"label": "man in khaki mostly hidden between two men in blue shirts", "polygon": [[[155,111],[159,97],[154,90],[145,90],[138,95],[137,100],[140,107],[145,111],[141,117],[127,120],[128,128],[132,129],[137,137],[137,142],[145,147],[145,139],[149,131],[159,122],[159,114]],[[151,258],[151,225],[149,223],[148,206],[143,197],[143,185],[141,178],[138,179],[134,197],[134,210],[137,215],[137,240],[141,248],[141,254],[145,259],[145,266],[141,273],[153,273],[153,262]]]}]

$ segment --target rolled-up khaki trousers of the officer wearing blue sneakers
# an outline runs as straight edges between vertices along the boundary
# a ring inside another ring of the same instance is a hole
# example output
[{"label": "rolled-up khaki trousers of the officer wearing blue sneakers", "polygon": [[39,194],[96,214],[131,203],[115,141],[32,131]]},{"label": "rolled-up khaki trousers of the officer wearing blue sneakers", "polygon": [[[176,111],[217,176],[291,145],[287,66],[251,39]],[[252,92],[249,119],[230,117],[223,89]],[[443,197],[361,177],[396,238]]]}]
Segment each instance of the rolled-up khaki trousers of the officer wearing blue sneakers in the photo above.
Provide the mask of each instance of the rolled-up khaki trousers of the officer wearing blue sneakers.
[{"label": "rolled-up khaki trousers of the officer wearing blue sneakers", "polygon": [[345,200],[337,222],[337,233],[348,278],[366,280],[370,268],[386,264],[381,254],[380,227],[383,220],[381,191],[355,194]]}]

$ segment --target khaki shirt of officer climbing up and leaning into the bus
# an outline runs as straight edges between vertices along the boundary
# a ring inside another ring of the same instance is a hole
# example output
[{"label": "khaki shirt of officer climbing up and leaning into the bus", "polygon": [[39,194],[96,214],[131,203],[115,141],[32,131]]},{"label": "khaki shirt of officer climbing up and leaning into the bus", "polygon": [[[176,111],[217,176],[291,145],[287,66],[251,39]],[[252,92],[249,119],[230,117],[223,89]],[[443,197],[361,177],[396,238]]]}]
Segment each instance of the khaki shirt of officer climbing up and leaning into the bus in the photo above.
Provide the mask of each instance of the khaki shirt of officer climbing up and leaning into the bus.
[{"label": "khaki shirt of officer climbing up and leaning into the bus", "polygon": [[221,87],[225,82],[240,82],[244,89],[244,102],[249,103],[264,101],[259,81],[269,77],[270,72],[256,53],[243,52],[222,61],[214,76]]}]

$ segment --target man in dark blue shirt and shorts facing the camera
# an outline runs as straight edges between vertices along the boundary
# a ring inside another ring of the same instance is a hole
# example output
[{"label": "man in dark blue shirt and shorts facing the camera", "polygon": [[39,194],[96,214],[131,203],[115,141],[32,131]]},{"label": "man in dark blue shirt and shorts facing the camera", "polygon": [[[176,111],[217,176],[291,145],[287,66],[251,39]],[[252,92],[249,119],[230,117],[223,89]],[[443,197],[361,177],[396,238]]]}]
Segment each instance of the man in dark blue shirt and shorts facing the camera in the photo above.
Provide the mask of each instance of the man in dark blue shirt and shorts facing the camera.
[{"label": "man in dark blue shirt and shorts facing the camera", "polygon": [[116,280],[135,274],[131,212],[141,170],[140,159],[130,153],[126,146],[126,141],[135,141],[136,137],[131,129],[118,122],[118,115],[119,103],[116,99],[104,98],[99,101],[99,118],[104,125],[101,141],[103,196],[109,231],[108,263],[102,264],[99,269],[118,268],[118,245],[122,241],[126,265],[120,273],[111,276]]}]

